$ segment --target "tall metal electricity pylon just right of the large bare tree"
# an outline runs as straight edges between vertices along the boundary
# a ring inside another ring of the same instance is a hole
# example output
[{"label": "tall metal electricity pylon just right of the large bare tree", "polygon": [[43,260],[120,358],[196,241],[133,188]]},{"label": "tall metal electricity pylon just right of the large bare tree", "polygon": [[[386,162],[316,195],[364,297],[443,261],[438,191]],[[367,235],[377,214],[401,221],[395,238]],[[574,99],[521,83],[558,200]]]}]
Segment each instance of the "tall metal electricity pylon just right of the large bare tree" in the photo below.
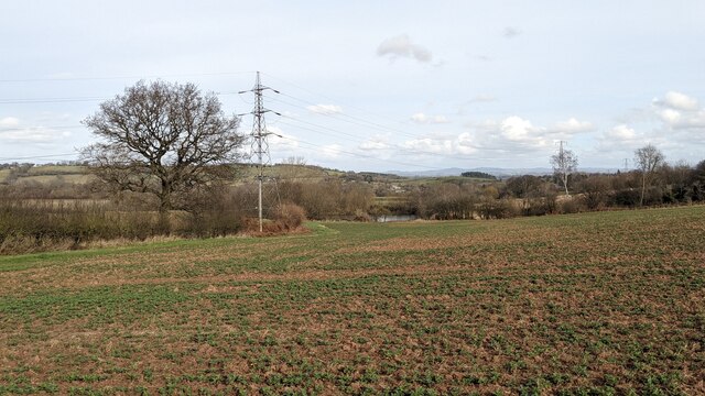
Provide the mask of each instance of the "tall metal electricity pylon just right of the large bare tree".
[{"label": "tall metal electricity pylon just right of the large bare tree", "polygon": [[[276,94],[279,91],[276,89],[272,89],[269,87],[262,86],[260,80],[260,73],[257,72],[257,79],[254,81],[254,87],[248,91],[240,91],[239,94],[245,92],[254,92],[254,109],[252,110],[252,116],[254,117],[254,121],[252,123],[252,154],[256,157],[257,165],[257,182],[258,182],[258,213],[260,220],[260,232],[262,232],[262,179],[264,178],[264,167],[270,165],[271,157],[269,155],[269,143],[267,142],[267,136],[269,135],[278,135],[276,133],[267,131],[267,124],[264,122],[264,113],[273,112],[274,114],[281,116],[276,111],[268,110],[264,108],[263,96],[262,92],[267,89],[270,89]],[[281,138],[281,136],[280,136]]]}]

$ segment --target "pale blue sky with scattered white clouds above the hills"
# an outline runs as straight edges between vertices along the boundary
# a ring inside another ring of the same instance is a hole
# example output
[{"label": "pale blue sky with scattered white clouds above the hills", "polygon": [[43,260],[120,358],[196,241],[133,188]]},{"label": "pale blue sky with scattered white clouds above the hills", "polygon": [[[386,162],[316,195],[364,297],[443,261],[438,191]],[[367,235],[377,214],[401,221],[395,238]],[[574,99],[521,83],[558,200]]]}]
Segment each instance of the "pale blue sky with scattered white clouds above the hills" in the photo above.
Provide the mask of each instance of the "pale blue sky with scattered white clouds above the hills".
[{"label": "pale blue sky with scattered white clouds above the hills", "polygon": [[550,167],[563,141],[578,168],[646,144],[694,165],[703,20],[702,0],[3,0],[0,163],[77,158],[82,121],[139,80],[251,112],[261,72],[272,163]]}]

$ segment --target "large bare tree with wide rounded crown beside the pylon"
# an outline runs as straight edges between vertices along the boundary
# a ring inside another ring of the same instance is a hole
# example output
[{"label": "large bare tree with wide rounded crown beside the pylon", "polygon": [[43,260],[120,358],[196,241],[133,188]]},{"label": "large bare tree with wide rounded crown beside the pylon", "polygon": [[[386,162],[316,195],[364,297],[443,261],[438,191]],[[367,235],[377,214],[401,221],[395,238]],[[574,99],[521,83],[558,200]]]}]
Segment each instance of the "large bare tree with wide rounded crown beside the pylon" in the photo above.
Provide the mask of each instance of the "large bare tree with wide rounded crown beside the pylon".
[{"label": "large bare tree with wide rounded crown beside the pylon", "polygon": [[243,142],[239,119],[194,84],[140,81],[84,124],[100,138],[83,148],[96,174],[116,190],[155,196],[160,211],[182,209],[189,193],[232,175]]}]

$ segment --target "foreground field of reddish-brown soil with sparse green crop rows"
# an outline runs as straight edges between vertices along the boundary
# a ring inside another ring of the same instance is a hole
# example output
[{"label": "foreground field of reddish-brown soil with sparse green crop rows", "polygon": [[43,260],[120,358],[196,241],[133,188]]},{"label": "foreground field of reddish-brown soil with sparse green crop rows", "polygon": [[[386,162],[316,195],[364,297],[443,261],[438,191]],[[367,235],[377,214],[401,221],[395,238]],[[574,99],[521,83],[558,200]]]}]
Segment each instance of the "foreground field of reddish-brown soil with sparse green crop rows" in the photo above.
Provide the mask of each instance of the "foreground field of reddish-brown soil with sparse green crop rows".
[{"label": "foreground field of reddish-brown soil with sparse green crop rows", "polygon": [[0,257],[0,394],[705,393],[705,207]]}]

